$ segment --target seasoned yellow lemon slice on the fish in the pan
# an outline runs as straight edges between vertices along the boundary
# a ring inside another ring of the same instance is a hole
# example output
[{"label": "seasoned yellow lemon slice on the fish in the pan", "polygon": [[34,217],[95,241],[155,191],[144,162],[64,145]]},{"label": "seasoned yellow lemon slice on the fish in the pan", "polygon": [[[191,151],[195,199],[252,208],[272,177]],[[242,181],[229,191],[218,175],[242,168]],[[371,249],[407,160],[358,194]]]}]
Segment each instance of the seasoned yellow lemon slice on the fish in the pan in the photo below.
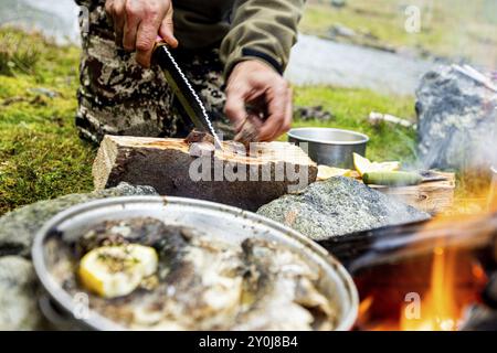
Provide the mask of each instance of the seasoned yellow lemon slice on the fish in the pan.
[{"label": "seasoned yellow lemon slice on the fish in the pan", "polygon": [[157,271],[158,260],[152,247],[138,244],[104,246],[82,258],[78,275],[83,286],[98,296],[123,297]]}]

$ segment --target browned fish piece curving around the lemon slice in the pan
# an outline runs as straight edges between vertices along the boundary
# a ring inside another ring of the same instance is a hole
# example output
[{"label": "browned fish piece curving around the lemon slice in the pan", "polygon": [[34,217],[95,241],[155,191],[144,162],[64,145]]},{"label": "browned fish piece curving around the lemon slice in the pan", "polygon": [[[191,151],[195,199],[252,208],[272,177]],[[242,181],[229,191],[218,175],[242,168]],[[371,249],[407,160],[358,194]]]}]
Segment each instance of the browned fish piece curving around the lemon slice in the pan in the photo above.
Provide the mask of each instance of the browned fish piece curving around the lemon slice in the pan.
[{"label": "browned fish piece curving around the lemon slice in the pan", "polygon": [[[92,298],[98,311],[120,322],[121,314],[129,327],[135,327],[136,318],[142,324],[184,330],[222,328],[234,319],[242,290],[240,249],[194,229],[166,226],[155,218],[103,222],[80,238],[77,247],[85,254],[99,246],[128,243],[156,248],[160,285],[148,295],[136,291],[105,301]],[[159,321],[152,320],[159,315],[151,314],[146,320],[147,312],[157,311],[162,312]]]}]

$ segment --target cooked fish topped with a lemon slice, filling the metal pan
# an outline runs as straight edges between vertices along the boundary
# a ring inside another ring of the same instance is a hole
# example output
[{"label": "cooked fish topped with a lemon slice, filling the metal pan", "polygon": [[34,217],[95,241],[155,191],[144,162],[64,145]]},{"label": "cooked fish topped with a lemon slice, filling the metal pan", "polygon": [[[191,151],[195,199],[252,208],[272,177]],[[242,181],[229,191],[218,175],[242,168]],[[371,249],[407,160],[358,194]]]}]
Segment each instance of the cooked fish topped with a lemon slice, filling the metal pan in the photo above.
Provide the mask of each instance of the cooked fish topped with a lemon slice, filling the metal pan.
[{"label": "cooked fish topped with a lemon slice, filling the metal pan", "polygon": [[46,244],[49,267],[91,309],[136,330],[332,330],[321,272],[276,243],[241,245],[156,218],[107,221]]}]

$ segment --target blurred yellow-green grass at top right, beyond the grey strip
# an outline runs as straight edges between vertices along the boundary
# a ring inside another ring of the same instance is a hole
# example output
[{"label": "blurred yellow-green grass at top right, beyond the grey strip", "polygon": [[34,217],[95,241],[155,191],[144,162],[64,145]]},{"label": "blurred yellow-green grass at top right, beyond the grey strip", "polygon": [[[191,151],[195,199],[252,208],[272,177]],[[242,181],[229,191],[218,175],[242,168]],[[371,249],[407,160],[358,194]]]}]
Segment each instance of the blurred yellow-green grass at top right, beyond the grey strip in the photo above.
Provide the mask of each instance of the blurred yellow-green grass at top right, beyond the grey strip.
[{"label": "blurred yellow-green grass at top right, beyond the grey strip", "polygon": [[[329,3],[328,0],[308,2],[300,24],[304,33],[327,36],[332,25],[340,24],[368,34],[360,41],[369,44],[416,49],[497,67],[495,0],[348,0],[339,9]],[[419,33],[405,30],[409,6],[421,10]]]}]

